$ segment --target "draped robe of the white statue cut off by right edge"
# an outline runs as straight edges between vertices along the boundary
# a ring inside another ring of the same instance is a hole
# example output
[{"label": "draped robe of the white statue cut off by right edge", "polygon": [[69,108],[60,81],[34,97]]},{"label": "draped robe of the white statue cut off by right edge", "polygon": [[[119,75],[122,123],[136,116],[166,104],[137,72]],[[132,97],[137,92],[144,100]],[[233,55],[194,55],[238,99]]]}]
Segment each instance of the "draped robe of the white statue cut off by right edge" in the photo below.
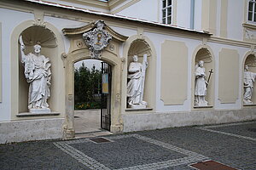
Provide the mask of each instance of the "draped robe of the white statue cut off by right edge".
[{"label": "draped robe of the white statue cut off by right edge", "polygon": [[255,81],[256,74],[251,71],[244,72],[244,95],[243,99],[252,99],[253,82]]}]

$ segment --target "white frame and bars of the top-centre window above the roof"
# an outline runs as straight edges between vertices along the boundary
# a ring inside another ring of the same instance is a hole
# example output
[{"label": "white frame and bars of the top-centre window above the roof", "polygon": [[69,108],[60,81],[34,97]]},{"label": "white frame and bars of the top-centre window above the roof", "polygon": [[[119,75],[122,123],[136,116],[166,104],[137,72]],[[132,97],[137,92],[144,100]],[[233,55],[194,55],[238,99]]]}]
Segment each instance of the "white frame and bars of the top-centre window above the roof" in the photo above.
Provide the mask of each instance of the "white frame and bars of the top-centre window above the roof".
[{"label": "white frame and bars of the top-centre window above the roof", "polygon": [[[171,2],[171,4],[168,4]],[[165,6],[164,6],[165,3]],[[163,24],[172,24],[172,0],[161,0],[161,23]],[[170,10],[171,9],[171,10]],[[171,14],[168,14],[170,12]]]}]

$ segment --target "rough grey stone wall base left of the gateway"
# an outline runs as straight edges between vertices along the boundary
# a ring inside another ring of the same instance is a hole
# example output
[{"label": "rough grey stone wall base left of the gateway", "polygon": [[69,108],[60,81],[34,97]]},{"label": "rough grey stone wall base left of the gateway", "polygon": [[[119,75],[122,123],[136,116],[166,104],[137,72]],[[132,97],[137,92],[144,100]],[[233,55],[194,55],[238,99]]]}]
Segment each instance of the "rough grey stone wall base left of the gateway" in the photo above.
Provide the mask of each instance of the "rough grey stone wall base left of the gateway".
[{"label": "rough grey stone wall base left of the gateway", "polygon": [[61,139],[64,118],[0,122],[0,144],[41,139]]}]

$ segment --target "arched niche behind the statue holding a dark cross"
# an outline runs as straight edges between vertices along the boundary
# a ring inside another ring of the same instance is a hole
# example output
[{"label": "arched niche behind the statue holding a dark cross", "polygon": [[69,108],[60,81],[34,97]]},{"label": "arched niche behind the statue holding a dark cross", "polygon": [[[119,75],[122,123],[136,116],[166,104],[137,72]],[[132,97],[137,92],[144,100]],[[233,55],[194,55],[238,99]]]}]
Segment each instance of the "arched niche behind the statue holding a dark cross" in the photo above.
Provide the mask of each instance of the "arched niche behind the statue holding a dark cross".
[{"label": "arched niche behind the statue holding a dark cross", "polygon": [[[206,80],[208,82],[207,85],[207,96],[206,100],[208,102],[206,107],[212,107],[214,103],[214,64],[213,64],[213,58],[212,58],[212,53],[208,48],[199,48],[198,51],[195,54],[195,59],[194,59],[194,69],[192,71],[192,82],[193,82],[193,100],[192,100],[192,105],[196,108],[200,108],[200,106],[195,106],[195,68],[198,62],[202,60],[204,61],[204,67],[205,67],[205,73],[207,75]],[[210,77],[210,71],[212,71],[212,75]],[[210,77],[210,79],[209,79]]]}]

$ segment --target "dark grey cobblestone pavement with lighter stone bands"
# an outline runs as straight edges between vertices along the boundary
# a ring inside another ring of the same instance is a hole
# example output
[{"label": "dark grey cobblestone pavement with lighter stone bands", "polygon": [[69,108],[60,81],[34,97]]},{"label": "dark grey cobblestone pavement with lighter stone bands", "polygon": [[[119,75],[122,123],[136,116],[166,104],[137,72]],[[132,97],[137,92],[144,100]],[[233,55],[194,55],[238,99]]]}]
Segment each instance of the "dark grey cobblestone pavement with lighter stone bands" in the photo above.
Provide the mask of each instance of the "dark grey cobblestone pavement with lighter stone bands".
[{"label": "dark grey cobblestone pavement with lighter stone bands", "polygon": [[0,145],[0,169],[11,170],[193,170],[206,160],[255,170],[256,121]]}]

